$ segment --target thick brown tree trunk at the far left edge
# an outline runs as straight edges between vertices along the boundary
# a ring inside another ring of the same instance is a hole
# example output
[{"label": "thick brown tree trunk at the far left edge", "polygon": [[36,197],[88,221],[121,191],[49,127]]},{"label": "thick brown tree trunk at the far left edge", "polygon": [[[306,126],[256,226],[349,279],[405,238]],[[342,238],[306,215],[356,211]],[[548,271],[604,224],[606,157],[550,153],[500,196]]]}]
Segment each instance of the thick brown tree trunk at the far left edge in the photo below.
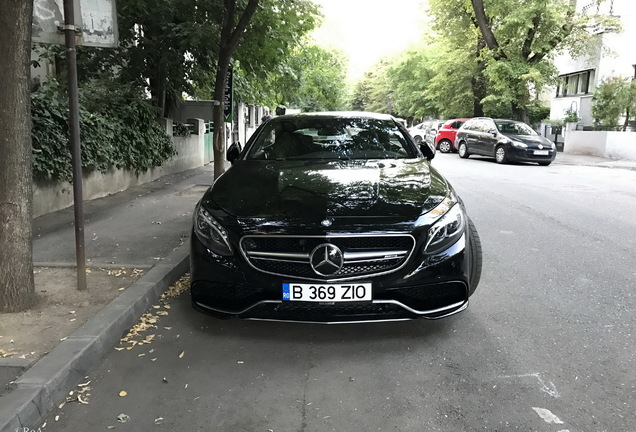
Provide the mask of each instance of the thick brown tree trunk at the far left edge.
[{"label": "thick brown tree trunk at the far left edge", "polygon": [[35,299],[32,241],[31,22],[33,2],[0,2],[0,312]]}]

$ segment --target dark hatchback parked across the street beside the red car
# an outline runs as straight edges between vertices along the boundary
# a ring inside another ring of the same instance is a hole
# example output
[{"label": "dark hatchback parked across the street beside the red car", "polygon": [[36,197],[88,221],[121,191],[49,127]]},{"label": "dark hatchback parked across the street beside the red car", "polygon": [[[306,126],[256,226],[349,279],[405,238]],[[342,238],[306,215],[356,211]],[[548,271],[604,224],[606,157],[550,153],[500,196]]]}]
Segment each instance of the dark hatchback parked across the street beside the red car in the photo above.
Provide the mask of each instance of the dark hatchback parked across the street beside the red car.
[{"label": "dark hatchback parked across the street beside the red car", "polygon": [[536,162],[550,165],[556,146],[530,126],[515,120],[476,117],[457,131],[455,147],[461,158],[470,155],[494,157],[497,163]]}]

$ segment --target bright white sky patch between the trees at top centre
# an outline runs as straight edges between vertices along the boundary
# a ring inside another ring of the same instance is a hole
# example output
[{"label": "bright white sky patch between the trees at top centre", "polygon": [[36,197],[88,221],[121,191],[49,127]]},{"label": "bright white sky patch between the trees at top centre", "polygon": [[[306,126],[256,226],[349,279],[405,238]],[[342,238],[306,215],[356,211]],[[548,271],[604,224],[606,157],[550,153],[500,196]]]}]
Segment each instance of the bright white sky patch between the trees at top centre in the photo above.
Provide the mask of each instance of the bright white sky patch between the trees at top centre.
[{"label": "bright white sky patch between the trees at top centre", "polygon": [[425,0],[314,0],[322,5],[323,25],[316,42],[348,55],[355,80],[381,57],[417,42],[424,30]]}]

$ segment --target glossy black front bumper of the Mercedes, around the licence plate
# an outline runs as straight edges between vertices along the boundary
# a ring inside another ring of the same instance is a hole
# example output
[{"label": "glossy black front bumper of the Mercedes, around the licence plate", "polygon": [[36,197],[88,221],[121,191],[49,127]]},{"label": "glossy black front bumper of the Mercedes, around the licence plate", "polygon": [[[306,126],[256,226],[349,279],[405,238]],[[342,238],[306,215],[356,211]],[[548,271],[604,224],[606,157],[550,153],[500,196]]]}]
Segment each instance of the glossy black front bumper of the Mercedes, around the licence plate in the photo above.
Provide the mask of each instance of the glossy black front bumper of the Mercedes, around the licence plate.
[{"label": "glossy black front bumper of the Mercedes, around the licence plate", "polygon": [[[293,278],[252,268],[239,254],[210,253],[193,233],[191,296],[195,309],[220,318],[345,323],[436,319],[468,305],[470,262],[467,234],[432,256],[413,253],[398,271],[360,279],[371,282],[371,302],[313,303],[282,300],[282,284]],[[316,281],[325,284],[328,281]]]}]

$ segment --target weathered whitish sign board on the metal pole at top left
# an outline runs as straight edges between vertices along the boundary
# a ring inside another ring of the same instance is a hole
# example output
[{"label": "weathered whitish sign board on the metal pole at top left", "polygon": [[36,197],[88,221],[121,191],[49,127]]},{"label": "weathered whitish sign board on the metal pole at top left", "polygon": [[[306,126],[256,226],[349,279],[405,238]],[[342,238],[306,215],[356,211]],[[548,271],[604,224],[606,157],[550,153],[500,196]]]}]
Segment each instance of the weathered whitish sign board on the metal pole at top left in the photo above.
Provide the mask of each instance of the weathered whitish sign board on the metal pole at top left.
[{"label": "weathered whitish sign board on the metal pole at top left", "polygon": [[[75,0],[75,23],[79,31],[75,44],[100,48],[115,48],[117,34],[117,7],[115,0]],[[63,0],[34,0],[32,41],[64,45]]]}]

